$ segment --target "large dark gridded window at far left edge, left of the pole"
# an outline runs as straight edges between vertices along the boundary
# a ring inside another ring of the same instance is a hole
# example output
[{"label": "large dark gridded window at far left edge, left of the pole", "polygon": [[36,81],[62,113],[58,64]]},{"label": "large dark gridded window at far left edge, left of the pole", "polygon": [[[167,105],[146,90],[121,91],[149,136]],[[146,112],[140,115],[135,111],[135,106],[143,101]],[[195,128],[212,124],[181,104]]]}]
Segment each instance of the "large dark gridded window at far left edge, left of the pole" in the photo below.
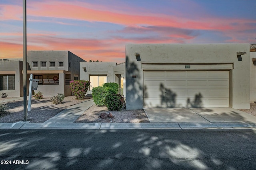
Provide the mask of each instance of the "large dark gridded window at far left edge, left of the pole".
[{"label": "large dark gridded window at far left edge, left of the pole", "polygon": [[0,90],[15,90],[15,75],[0,76]]}]

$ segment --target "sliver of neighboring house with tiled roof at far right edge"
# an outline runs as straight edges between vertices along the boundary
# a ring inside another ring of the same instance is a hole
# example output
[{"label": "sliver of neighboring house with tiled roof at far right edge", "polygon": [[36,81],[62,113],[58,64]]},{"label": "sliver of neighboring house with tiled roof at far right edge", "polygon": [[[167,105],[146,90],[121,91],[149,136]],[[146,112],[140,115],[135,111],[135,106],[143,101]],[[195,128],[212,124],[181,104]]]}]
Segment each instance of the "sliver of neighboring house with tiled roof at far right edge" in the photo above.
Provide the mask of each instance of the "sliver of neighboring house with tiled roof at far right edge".
[{"label": "sliver of neighboring house with tiled roof at far right edge", "polygon": [[250,102],[256,101],[256,44],[250,45]]}]

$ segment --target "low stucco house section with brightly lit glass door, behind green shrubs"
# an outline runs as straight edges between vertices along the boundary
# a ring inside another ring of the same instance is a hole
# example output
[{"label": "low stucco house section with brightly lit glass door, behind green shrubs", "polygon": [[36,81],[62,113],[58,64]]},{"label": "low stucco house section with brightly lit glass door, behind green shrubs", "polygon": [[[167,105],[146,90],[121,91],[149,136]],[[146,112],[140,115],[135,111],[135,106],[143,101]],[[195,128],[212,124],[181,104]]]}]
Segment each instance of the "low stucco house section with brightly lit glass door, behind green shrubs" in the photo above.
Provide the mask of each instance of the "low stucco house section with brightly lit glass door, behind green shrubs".
[{"label": "low stucco house section with brightly lit glass door, behind green shrubs", "polygon": [[106,82],[116,82],[120,87],[120,94],[124,94],[125,63],[115,62],[80,62],[80,80],[89,80],[90,88],[102,86]]}]

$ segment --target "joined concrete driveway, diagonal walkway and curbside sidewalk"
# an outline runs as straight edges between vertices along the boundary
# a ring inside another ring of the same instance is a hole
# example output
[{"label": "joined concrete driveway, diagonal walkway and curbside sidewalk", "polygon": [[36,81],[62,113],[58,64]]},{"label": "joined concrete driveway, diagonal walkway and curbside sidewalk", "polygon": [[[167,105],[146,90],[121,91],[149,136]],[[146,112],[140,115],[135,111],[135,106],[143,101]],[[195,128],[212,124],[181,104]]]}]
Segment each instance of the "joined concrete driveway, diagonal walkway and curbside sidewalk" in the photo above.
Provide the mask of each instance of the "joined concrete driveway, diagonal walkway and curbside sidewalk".
[{"label": "joined concrete driveway, diagonal walkway and curbside sidewalk", "polygon": [[73,123],[94,104],[87,100],[44,123],[0,123],[0,129],[252,129],[256,117],[232,108],[145,108],[151,123]]}]

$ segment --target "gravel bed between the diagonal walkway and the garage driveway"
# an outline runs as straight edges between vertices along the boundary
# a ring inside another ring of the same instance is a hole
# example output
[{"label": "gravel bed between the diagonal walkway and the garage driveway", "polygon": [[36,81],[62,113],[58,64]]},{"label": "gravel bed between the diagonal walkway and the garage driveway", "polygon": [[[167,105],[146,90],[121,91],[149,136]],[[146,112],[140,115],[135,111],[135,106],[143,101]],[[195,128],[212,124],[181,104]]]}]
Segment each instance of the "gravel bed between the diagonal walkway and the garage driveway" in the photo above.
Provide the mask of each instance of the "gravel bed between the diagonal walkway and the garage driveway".
[{"label": "gravel bed between the diagonal walkway and the garage driveway", "polygon": [[[102,119],[101,113],[111,113],[113,117]],[[97,107],[93,105],[87,109],[74,123],[89,122],[116,122],[116,123],[150,123],[144,110],[108,111],[107,107]]]}]

